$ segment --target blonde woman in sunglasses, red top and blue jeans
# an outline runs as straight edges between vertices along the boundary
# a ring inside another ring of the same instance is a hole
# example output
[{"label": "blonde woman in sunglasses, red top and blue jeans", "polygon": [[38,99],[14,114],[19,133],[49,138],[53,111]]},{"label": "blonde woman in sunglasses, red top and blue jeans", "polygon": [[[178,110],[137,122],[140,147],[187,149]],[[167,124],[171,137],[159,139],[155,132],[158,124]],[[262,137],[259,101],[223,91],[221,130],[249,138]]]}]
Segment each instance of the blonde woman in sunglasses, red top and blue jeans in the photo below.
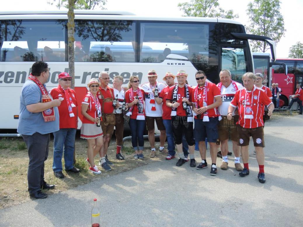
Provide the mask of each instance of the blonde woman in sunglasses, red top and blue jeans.
[{"label": "blonde woman in sunglasses, red top and blue jeans", "polygon": [[[129,127],[132,133],[132,146],[135,150],[134,159],[143,159],[144,149],[144,127],[145,127],[145,111],[144,111],[144,91],[139,89],[139,78],[131,76],[128,82],[128,90],[125,92],[125,101],[129,108],[126,113],[130,117]],[[140,108],[138,108],[140,107]]]}]

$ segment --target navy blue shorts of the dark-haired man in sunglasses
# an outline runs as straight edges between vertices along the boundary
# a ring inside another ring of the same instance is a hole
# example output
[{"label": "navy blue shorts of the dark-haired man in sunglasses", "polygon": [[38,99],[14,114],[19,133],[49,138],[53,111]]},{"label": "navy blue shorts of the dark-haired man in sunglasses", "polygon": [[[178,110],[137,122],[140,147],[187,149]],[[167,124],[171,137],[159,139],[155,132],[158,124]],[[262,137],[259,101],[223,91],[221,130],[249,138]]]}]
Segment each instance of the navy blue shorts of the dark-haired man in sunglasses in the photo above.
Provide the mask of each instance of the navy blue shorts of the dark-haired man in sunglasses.
[{"label": "navy blue shorts of the dark-haired man in sunglasses", "polygon": [[218,134],[218,117],[210,117],[209,121],[195,119],[195,141],[205,141],[216,143]]}]

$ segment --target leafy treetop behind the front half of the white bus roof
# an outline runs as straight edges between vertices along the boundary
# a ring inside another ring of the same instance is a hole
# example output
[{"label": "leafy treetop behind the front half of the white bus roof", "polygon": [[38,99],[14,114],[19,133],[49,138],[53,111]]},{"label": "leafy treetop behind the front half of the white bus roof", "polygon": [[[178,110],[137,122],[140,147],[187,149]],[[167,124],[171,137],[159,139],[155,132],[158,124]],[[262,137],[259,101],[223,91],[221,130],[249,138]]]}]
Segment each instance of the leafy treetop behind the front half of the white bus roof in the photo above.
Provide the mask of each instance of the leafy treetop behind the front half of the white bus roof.
[{"label": "leafy treetop behind the front half of the white bus roof", "polygon": [[238,18],[233,10],[225,11],[219,7],[218,0],[191,0],[190,3],[179,3],[178,7],[188,17],[211,17],[211,18]]}]

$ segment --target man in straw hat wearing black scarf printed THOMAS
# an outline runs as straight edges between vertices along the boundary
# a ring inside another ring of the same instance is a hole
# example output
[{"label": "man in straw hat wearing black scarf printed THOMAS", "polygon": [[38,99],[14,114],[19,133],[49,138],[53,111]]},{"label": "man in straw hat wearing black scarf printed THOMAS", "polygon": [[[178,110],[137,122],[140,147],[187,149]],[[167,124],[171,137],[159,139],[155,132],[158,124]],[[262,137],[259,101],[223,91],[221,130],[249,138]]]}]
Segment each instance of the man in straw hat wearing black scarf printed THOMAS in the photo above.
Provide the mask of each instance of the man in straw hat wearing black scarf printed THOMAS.
[{"label": "man in straw hat wearing black scarf printed THOMAS", "polygon": [[185,84],[186,78],[187,73],[185,70],[179,70],[177,74],[178,83],[168,90],[166,106],[171,108],[171,125],[180,158],[176,163],[176,166],[182,166],[185,163],[185,157],[182,150],[183,132],[188,143],[190,166],[196,167],[193,114],[191,111],[191,93],[193,89]]}]

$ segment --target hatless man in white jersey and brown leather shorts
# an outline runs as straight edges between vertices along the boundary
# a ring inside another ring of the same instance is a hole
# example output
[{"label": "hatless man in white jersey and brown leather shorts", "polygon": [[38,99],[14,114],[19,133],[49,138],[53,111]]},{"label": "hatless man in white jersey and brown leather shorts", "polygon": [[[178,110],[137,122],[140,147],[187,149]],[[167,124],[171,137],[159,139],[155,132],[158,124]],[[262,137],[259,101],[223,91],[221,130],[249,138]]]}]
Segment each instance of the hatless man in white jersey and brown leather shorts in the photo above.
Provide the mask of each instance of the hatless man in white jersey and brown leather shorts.
[{"label": "hatless man in white jersey and brown leather shorts", "polygon": [[228,138],[230,136],[232,141],[232,150],[235,155],[235,168],[237,171],[242,171],[243,168],[240,164],[240,147],[238,146],[238,133],[236,123],[239,119],[238,111],[234,110],[232,113],[232,120],[227,120],[228,107],[231,100],[234,98],[237,90],[243,88],[238,82],[231,80],[231,73],[229,70],[223,69],[220,74],[220,83],[217,87],[221,93],[222,104],[218,107],[222,120],[219,121],[218,131],[219,140],[221,141],[221,153],[222,153],[222,165],[221,169],[226,170],[228,168]]}]

